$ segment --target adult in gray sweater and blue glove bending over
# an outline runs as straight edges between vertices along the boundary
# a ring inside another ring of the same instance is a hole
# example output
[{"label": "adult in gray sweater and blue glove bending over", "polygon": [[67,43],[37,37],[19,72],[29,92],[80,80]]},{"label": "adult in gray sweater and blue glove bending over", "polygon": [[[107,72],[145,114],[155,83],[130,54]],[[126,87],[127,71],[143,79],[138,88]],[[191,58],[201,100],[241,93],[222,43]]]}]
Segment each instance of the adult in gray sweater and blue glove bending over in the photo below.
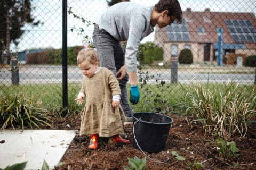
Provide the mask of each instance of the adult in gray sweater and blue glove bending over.
[{"label": "adult in gray sweater and blue glove bending over", "polygon": [[[130,79],[130,101],[137,104],[140,92],[137,81],[137,50],[140,41],[159,28],[181,23],[182,10],[178,0],[160,0],[154,7],[134,2],[117,3],[103,12],[95,24],[93,42],[100,56],[100,66],[114,72],[121,88],[121,106],[132,121],[126,84]],[[125,55],[120,41],[126,41]],[[124,57],[125,56],[125,57]],[[127,74],[128,73],[128,74]]]}]

